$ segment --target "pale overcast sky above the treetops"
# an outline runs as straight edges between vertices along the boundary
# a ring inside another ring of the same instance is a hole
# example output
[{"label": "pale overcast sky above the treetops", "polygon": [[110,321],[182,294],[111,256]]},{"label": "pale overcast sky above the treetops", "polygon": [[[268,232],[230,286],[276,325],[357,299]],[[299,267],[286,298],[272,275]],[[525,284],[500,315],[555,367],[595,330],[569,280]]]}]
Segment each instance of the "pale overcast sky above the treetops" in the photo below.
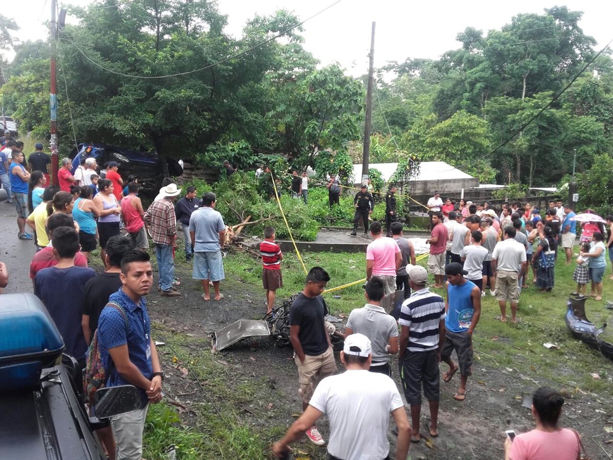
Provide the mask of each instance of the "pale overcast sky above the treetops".
[{"label": "pale overcast sky above the treetops", "polygon": [[[269,15],[284,8],[294,11],[302,20],[333,2],[219,0],[218,5],[220,12],[228,15],[226,32],[240,37],[245,21],[256,13]],[[20,40],[42,39],[47,33],[43,23],[50,18],[50,3],[51,0],[13,1],[10,8],[2,9],[2,13],[17,21]],[[83,6],[92,1],[64,3]],[[584,12],[579,26],[595,37],[598,49],[613,38],[612,1],[567,0],[558,4]],[[543,0],[343,0],[305,23],[304,46],[322,64],[338,61],[348,73],[359,76],[368,69],[372,21],[376,21],[375,67],[379,67],[387,61],[402,62],[408,57],[436,59],[459,47],[455,35],[468,26],[483,29],[485,34],[489,29],[500,29],[517,13],[543,13],[544,8],[554,5],[555,2]]]}]

